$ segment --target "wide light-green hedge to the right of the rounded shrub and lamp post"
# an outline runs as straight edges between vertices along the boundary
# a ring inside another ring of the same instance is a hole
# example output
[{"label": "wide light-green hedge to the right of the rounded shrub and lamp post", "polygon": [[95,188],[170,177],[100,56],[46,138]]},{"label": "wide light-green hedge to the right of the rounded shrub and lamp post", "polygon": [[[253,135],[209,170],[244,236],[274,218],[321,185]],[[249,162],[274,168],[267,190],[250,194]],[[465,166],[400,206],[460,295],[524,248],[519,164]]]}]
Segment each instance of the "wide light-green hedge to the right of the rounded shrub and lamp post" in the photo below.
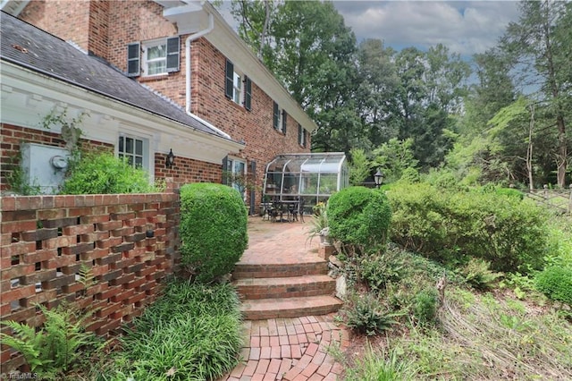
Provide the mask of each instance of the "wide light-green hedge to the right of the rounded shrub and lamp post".
[{"label": "wide light-green hedge to the right of the rounded shrub and lamp post", "polygon": [[443,263],[482,258],[493,271],[543,266],[546,219],[526,199],[426,183],[400,184],[387,195],[393,210],[391,240],[409,250]]}]

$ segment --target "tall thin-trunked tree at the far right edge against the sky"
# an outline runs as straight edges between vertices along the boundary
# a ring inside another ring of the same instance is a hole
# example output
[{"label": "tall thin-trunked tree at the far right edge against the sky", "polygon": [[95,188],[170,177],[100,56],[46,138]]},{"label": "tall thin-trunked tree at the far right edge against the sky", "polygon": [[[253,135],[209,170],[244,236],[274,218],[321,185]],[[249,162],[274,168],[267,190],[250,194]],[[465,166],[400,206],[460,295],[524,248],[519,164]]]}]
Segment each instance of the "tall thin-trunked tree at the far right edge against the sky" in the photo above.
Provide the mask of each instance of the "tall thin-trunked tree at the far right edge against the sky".
[{"label": "tall thin-trunked tree at the far right edge against the sky", "polygon": [[501,47],[513,59],[517,80],[523,87],[537,88],[537,97],[550,109],[556,130],[554,159],[557,182],[565,186],[568,165],[567,110],[572,68],[570,46],[572,6],[562,1],[524,1],[520,19],[509,24]]}]

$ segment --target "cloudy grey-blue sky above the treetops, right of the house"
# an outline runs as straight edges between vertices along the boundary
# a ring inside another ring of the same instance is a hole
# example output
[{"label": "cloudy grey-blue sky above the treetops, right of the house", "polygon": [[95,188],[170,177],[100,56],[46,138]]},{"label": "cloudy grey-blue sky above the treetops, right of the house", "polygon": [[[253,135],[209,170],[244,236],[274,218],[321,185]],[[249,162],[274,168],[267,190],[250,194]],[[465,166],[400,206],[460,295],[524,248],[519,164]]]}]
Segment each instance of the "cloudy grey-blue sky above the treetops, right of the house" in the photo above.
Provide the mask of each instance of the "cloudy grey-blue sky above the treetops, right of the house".
[{"label": "cloudy grey-blue sky above the treetops, right of the house", "polygon": [[514,1],[340,1],[334,2],[359,39],[380,38],[387,46],[427,48],[442,43],[461,55],[496,45]]}]

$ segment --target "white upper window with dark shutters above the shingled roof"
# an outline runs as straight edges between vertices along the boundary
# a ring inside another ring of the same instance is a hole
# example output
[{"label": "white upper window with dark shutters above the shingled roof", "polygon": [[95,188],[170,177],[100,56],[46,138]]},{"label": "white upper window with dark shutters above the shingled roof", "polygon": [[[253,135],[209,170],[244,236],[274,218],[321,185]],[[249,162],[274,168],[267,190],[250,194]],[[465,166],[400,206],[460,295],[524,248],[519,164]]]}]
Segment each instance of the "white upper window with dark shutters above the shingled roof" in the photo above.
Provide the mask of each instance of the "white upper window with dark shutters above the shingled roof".
[{"label": "white upper window with dark shutters above the shingled roof", "polygon": [[180,51],[179,37],[131,43],[127,47],[127,75],[137,77],[179,72]]}]

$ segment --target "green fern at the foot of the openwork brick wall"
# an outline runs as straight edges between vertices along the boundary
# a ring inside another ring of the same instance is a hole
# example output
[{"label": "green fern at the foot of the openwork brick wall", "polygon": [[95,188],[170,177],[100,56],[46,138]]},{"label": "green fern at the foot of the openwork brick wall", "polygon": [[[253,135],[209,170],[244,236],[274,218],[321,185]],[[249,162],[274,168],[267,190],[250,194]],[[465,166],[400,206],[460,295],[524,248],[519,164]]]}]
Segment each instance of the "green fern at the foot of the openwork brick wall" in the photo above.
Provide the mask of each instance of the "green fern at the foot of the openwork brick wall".
[{"label": "green fern at the foot of the openwork brick wall", "polygon": [[88,315],[67,304],[55,309],[38,305],[46,317],[38,329],[13,320],[0,324],[12,329],[13,335],[0,333],[2,343],[20,351],[33,373],[43,378],[61,377],[77,368],[80,360],[88,358],[98,345],[93,332],[85,332]]}]

